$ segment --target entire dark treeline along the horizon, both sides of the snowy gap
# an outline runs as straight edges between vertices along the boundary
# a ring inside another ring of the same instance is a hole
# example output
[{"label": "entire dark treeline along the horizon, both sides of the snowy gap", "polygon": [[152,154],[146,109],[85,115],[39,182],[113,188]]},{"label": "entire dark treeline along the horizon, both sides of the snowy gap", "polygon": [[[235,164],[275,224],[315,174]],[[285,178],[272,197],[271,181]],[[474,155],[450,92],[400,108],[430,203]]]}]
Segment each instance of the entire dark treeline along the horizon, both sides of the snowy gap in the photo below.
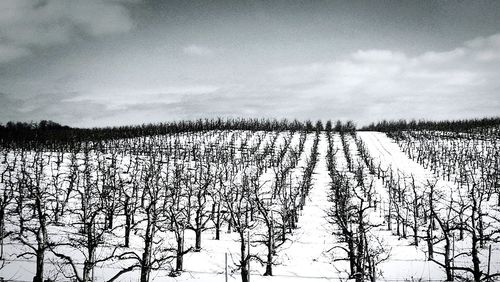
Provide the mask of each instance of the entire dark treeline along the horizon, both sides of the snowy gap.
[{"label": "entire dark treeline along the horizon, both sides of the snowy gap", "polygon": [[[477,128],[500,126],[500,117],[467,119],[467,120],[383,120],[372,123],[359,130],[394,132],[401,130],[440,130],[452,132],[465,132]],[[0,146],[25,147],[53,146],[57,144],[71,145],[75,142],[99,142],[103,140],[136,138],[181,132],[198,132],[208,130],[250,130],[250,131],[355,131],[356,125],[352,121],[340,122],[327,121],[299,121],[277,119],[198,119],[181,120],[155,124],[142,124],[133,126],[116,126],[101,128],[73,128],[53,121],[40,122],[8,122],[0,124]]]}]

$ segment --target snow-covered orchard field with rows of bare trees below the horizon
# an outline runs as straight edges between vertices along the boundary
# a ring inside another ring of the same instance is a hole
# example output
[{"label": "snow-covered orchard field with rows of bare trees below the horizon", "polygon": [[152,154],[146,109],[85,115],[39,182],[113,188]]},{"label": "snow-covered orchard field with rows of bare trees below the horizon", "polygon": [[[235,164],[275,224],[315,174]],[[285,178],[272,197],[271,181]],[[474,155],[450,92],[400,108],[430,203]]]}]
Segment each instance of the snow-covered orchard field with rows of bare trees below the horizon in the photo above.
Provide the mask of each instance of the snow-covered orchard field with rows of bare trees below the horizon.
[{"label": "snow-covered orchard field with rows of bare trees below the horizon", "polygon": [[[99,150],[38,154],[5,151],[0,186],[3,195],[0,204],[6,213],[0,277],[33,281],[36,256],[25,252],[36,253],[44,248],[44,279],[74,280],[74,270],[67,259],[70,257],[78,279],[85,279],[83,264],[91,261],[94,265],[88,281],[109,281],[119,271],[134,265],[116,281],[141,281],[141,266],[147,264],[143,254],[149,236],[152,243],[148,259],[156,260],[149,265],[149,281],[225,281],[226,275],[228,281],[241,281],[242,259],[249,261],[250,281],[345,281],[352,275],[347,252],[342,249],[346,243],[331,216],[336,205],[332,199],[336,187],[332,187],[328,168],[331,146],[335,150],[335,171],[345,174],[353,191],[357,193],[365,186],[371,189],[370,205],[363,219],[370,226],[366,252],[380,244],[383,246],[380,257],[386,258],[377,262],[373,276],[378,281],[444,281],[445,269],[438,264],[444,263],[440,254],[444,250],[442,230],[429,222],[432,213],[450,224],[462,215],[467,220],[469,211],[459,210],[458,200],[452,202],[453,209],[446,210],[446,197],[460,194],[457,182],[443,180],[430,167],[424,168],[408,158],[383,133],[345,134],[347,150],[339,133],[331,133],[331,144],[327,134],[221,131],[109,143],[99,153]],[[141,147],[143,151],[130,153],[137,144],[145,144]],[[364,163],[360,144],[364,144],[371,158],[372,170]],[[154,150],[148,153],[146,145]],[[311,165],[314,154],[317,162]],[[37,158],[45,161],[38,163]],[[307,167],[313,168],[310,183]],[[362,171],[365,186],[359,184],[356,171]],[[435,199],[440,199],[436,200],[434,211],[426,204],[429,183],[435,183]],[[393,190],[388,185],[394,185]],[[400,203],[393,199],[397,185],[407,188],[403,195],[406,200]],[[491,237],[478,247],[480,269],[484,273],[500,272],[500,246],[495,242],[495,230],[500,225],[495,221],[497,209],[490,205],[495,197],[484,200],[484,213],[491,216],[484,219],[483,227]],[[257,201],[262,202],[261,212],[256,207]],[[350,203],[353,208],[357,204],[357,200]],[[41,210],[37,211],[37,207]],[[43,216],[37,216],[38,212]],[[37,240],[37,236],[42,236],[41,218],[45,220],[47,237]],[[106,227],[110,218],[113,226]],[[129,222],[130,242],[126,247],[124,232],[130,218],[133,223]],[[266,227],[266,219],[272,222],[271,229]],[[20,221],[24,221],[25,228],[21,236]],[[85,233],[81,230],[84,223],[97,231]],[[197,224],[201,224],[198,226],[201,249],[183,254],[182,271],[172,277],[178,263],[179,236],[184,238],[183,250],[196,248]],[[350,224],[354,232],[359,231],[354,223]],[[414,226],[417,228],[412,229]],[[429,237],[427,232],[434,233]],[[457,252],[451,254],[456,256],[453,266],[473,265],[467,255],[471,251],[469,233],[475,234],[466,232],[459,240],[455,238],[458,229],[450,231],[453,250]],[[89,241],[88,236],[97,239]],[[435,261],[428,260],[429,238]],[[75,242],[76,239],[80,241]],[[92,254],[86,249],[89,242],[96,244]],[[272,242],[274,248],[272,262],[267,261],[267,242]],[[492,254],[487,270],[489,246]],[[465,254],[459,256],[458,252]],[[272,264],[272,276],[263,275],[266,262]],[[457,276],[466,273],[456,270]]]}]

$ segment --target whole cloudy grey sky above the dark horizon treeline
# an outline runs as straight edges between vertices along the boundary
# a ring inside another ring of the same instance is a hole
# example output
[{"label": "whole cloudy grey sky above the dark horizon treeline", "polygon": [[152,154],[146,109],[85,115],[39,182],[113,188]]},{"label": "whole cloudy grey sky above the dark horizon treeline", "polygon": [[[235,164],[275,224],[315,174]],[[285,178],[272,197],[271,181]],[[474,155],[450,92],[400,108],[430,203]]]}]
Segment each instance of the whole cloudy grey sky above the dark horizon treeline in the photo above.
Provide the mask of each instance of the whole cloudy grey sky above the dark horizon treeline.
[{"label": "whole cloudy grey sky above the dark horizon treeline", "polygon": [[499,115],[500,1],[0,1],[0,123]]}]

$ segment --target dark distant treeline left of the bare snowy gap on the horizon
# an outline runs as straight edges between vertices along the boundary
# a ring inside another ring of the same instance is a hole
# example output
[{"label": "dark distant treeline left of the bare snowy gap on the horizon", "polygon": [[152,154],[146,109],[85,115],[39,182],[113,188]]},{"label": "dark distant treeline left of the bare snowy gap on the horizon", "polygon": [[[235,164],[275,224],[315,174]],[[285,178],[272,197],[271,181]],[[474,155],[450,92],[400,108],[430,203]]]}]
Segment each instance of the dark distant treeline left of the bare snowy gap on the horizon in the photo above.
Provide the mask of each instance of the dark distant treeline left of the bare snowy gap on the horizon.
[{"label": "dark distant treeline left of the bare snowy gap on the horizon", "polygon": [[349,121],[337,121],[335,125],[328,121],[323,126],[321,121],[312,122],[277,119],[198,119],[181,120],[156,124],[134,126],[117,126],[102,128],[72,128],[53,121],[8,122],[0,124],[0,146],[32,147],[34,145],[54,145],[54,143],[71,144],[74,142],[98,142],[110,139],[135,138],[181,132],[198,132],[208,130],[251,130],[251,131],[306,131],[317,130],[354,131],[356,126]]}]

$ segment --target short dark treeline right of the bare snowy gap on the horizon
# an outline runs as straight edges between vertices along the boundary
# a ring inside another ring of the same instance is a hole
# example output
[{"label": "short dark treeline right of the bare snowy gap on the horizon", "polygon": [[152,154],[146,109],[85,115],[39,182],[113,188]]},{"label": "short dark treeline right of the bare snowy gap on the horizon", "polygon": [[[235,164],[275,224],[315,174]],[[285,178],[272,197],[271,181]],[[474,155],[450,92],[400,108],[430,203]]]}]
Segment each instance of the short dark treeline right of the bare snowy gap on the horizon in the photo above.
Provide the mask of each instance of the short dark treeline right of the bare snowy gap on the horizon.
[{"label": "short dark treeline right of the bare snowy gap on the horizon", "polygon": [[469,132],[479,128],[489,128],[500,126],[500,117],[489,117],[480,119],[462,120],[383,120],[378,123],[371,123],[364,126],[360,131],[381,131],[394,132],[402,130],[438,130],[449,132]]}]

